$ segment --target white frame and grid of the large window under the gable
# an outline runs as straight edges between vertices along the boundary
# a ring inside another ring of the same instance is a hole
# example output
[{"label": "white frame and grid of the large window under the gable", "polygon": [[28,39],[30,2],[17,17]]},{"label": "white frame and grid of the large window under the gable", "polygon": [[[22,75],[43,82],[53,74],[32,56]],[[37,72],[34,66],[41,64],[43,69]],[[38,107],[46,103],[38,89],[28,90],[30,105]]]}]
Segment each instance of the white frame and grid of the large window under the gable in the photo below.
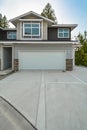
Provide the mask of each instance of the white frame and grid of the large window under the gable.
[{"label": "white frame and grid of the large window under the gable", "polygon": [[[25,27],[25,25],[31,25],[31,27]],[[32,25],[34,25],[34,24],[38,24],[39,26],[38,27],[33,27]],[[32,37],[35,37],[35,38],[38,38],[38,37],[40,37],[40,35],[41,35],[41,27],[40,27],[41,25],[40,25],[40,22],[23,22],[23,36],[24,37],[30,37],[30,38],[32,38]],[[25,34],[25,29],[30,29],[31,30],[31,34]],[[39,33],[38,34],[33,34],[33,29],[39,29]]]}]

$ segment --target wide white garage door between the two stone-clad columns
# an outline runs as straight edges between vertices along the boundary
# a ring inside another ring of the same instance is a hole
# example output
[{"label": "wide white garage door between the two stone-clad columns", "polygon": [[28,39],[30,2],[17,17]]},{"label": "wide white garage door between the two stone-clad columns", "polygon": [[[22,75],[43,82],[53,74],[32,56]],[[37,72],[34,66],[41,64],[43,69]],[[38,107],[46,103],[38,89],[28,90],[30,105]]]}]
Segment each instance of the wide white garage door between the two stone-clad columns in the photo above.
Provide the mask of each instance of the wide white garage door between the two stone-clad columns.
[{"label": "wide white garage door between the two stone-clad columns", "polygon": [[21,69],[65,70],[65,53],[19,52],[19,70]]}]

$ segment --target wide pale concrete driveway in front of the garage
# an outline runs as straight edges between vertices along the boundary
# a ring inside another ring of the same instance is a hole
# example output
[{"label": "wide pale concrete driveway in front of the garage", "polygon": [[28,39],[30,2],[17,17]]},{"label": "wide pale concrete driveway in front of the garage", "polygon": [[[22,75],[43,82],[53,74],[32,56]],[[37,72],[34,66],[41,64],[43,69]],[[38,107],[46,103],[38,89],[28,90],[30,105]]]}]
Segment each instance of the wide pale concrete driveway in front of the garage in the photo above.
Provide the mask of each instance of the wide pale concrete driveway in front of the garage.
[{"label": "wide pale concrete driveway in front of the garage", "polygon": [[87,130],[87,69],[19,71],[0,81],[0,96],[38,130]]}]

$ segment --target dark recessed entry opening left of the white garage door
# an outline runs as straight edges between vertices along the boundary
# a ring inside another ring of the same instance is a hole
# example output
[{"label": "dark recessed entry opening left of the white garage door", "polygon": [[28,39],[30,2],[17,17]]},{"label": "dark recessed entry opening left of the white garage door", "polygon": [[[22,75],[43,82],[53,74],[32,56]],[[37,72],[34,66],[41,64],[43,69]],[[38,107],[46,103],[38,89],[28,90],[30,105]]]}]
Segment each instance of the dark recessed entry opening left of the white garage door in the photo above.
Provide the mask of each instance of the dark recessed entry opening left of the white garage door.
[{"label": "dark recessed entry opening left of the white garage door", "polygon": [[12,47],[3,47],[3,70],[12,68]]}]

